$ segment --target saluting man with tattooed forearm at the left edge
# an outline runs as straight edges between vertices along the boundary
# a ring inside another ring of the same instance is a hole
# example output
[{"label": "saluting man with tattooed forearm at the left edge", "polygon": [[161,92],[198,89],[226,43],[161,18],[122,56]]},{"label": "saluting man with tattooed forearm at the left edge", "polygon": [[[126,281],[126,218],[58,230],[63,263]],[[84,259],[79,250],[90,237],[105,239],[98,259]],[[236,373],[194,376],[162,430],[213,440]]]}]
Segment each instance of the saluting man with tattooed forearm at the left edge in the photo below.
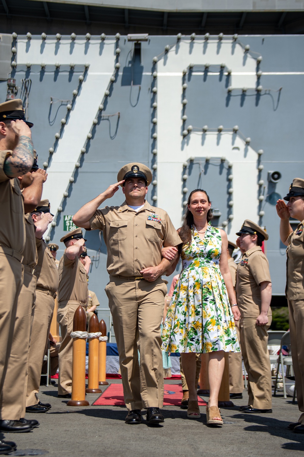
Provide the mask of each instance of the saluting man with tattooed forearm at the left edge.
[{"label": "saluting man with tattooed forearm at the left edge", "polygon": [[[17,300],[23,281],[21,260],[26,231],[17,176],[25,175],[33,165],[32,125],[25,119],[20,99],[0,104],[0,393],[10,358]],[[0,416],[0,428],[15,432],[24,431],[29,425]],[[15,448],[0,441],[0,452]]]}]

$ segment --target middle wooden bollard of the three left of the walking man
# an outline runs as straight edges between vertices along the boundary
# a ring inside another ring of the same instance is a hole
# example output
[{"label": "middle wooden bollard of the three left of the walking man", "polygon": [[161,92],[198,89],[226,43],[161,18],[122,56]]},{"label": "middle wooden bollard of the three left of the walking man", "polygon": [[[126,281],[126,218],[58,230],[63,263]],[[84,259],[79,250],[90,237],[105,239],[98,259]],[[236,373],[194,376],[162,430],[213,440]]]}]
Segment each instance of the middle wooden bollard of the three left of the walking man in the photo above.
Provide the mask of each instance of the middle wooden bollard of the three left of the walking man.
[{"label": "middle wooden bollard of the three left of the walking man", "polygon": [[[90,320],[89,333],[99,332],[99,322],[96,314]],[[101,393],[98,387],[98,362],[99,362],[99,338],[89,339],[89,380],[86,393]]]}]

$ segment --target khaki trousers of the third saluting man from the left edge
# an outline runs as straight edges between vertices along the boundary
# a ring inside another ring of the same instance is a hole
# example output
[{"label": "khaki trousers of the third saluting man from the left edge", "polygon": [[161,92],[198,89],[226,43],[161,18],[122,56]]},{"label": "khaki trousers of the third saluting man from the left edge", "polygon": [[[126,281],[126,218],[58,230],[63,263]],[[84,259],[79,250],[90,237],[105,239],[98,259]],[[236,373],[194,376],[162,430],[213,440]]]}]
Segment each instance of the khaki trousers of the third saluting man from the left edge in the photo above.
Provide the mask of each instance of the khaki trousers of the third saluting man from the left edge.
[{"label": "khaki trousers of the third saluting man from the left edge", "polygon": [[43,358],[48,345],[54,306],[55,300],[52,295],[36,290],[34,319],[27,362],[27,406],[32,406],[39,402],[37,393],[39,392]]}]

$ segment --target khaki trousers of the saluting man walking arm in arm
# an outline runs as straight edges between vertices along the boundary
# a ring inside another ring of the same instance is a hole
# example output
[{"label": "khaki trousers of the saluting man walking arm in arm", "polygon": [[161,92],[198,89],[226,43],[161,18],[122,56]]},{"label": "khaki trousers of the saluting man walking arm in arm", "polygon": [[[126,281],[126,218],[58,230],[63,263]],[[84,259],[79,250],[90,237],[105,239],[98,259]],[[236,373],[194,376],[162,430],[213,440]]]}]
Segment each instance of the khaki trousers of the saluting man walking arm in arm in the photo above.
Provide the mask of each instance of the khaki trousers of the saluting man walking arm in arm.
[{"label": "khaki trousers of the saluting man walking arm in arm", "polygon": [[110,276],[105,290],[113,317],[126,407],[129,411],[161,408],[164,376],[160,324],[167,287],[161,278],[149,282]]}]

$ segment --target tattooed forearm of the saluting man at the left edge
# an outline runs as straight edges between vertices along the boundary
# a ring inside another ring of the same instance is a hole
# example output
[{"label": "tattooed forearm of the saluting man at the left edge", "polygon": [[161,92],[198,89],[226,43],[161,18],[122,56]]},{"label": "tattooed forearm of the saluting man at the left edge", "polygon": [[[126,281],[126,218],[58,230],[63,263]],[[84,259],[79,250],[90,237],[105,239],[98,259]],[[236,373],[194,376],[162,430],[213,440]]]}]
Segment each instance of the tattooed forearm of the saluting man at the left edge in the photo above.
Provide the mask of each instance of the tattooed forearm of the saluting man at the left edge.
[{"label": "tattooed forearm of the saluting man at the left edge", "polygon": [[5,160],[3,170],[9,178],[23,176],[32,169],[34,149],[32,138],[22,135],[13,154]]}]

